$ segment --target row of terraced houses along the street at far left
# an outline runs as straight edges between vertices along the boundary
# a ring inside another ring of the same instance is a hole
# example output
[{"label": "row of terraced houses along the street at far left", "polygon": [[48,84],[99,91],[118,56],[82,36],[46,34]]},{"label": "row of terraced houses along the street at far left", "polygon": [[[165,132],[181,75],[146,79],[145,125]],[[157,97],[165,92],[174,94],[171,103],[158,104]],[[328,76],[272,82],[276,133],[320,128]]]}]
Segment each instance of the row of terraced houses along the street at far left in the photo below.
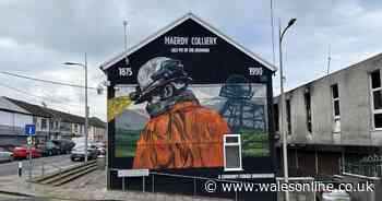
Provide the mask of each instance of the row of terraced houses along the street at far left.
[{"label": "row of terraced houses along the street at far left", "polygon": [[[44,143],[52,139],[71,139],[85,133],[83,117],[29,104],[9,97],[0,97],[0,145],[26,143],[25,125],[36,125],[36,140]],[[106,123],[89,118],[89,141],[105,142]],[[96,135],[96,137],[95,137]]]}]

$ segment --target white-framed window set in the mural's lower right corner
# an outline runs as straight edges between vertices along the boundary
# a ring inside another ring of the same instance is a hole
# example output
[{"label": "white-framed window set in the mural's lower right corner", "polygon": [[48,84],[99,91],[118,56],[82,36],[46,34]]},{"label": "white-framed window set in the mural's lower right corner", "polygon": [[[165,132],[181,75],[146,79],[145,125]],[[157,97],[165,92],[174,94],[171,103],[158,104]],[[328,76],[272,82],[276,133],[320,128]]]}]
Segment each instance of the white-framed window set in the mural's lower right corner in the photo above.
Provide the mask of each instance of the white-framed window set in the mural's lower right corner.
[{"label": "white-framed window set in the mural's lower right corner", "polygon": [[240,134],[224,135],[224,169],[241,170],[241,139]]}]

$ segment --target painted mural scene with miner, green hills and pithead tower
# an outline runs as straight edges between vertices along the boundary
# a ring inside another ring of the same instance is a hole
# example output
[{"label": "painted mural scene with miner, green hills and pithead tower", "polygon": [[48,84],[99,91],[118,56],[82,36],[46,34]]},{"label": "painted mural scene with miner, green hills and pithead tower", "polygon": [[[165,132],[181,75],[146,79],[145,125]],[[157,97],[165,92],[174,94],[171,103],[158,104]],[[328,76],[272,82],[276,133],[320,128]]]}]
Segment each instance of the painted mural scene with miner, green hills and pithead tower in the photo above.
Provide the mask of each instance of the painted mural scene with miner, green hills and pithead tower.
[{"label": "painted mural scene with miner, green hills and pithead tower", "polygon": [[155,57],[138,86],[117,86],[132,104],[116,117],[116,157],[132,168],[224,166],[224,134],[240,134],[242,157],[268,156],[266,86],[232,74],[224,84],[193,84],[181,60]]}]

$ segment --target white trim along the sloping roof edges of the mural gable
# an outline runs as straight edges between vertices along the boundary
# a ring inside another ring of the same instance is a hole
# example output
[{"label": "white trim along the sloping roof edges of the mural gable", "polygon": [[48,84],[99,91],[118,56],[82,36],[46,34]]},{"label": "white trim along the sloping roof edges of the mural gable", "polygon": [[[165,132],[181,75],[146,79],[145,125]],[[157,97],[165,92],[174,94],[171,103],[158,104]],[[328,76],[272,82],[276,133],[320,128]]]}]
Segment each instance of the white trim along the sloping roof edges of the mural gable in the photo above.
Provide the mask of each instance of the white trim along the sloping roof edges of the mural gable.
[{"label": "white trim along the sloping roof edges of the mural gable", "polygon": [[118,61],[124,59],[126,57],[128,57],[129,55],[135,52],[136,50],[141,49],[142,47],[144,47],[145,45],[147,45],[148,43],[153,42],[154,39],[160,37],[163,34],[165,34],[166,32],[172,29],[174,27],[178,26],[179,24],[183,23],[187,20],[193,20],[194,22],[199,23],[201,26],[205,27],[206,29],[208,29],[210,32],[216,34],[217,36],[222,37],[223,39],[225,39],[228,44],[235,46],[236,48],[238,48],[240,51],[242,51],[243,54],[248,55],[249,57],[251,57],[252,59],[259,61],[260,63],[262,63],[264,67],[266,67],[267,69],[270,69],[271,71],[276,71],[277,68],[273,64],[271,64],[270,62],[267,62],[266,60],[262,59],[260,56],[255,55],[254,52],[250,51],[249,49],[244,48],[243,46],[241,46],[240,44],[234,42],[231,38],[229,38],[228,36],[224,35],[223,33],[220,33],[219,31],[217,31],[215,27],[211,26],[208,23],[206,23],[205,21],[201,20],[200,17],[195,16],[192,13],[187,13],[186,15],[183,15],[182,17],[178,19],[177,21],[175,21],[174,23],[169,24],[168,26],[164,27],[163,29],[158,31],[157,33],[155,33],[154,35],[148,36],[146,39],[144,39],[143,42],[136,44],[135,46],[131,47],[130,49],[128,49],[127,51],[123,51],[121,54],[119,54],[118,56],[116,56],[115,58],[110,59],[109,61],[106,61],[104,63],[100,64],[100,69],[103,71],[106,71],[108,68],[110,68],[111,66],[114,66],[115,63],[117,63]]}]

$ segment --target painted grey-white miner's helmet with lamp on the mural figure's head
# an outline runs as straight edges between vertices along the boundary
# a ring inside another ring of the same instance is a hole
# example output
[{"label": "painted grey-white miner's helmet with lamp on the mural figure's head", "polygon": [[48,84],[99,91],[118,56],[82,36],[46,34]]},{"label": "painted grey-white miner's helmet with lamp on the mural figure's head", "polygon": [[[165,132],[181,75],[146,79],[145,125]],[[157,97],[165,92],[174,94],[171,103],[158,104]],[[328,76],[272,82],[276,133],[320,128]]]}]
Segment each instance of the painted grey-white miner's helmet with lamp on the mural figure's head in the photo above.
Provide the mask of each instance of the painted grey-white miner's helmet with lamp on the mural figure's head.
[{"label": "painted grey-white miner's helmet with lamp on the mural figure's head", "polygon": [[130,94],[135,104],[147,100],[170,82],[182,82],[187,86],[192,81],[180,60],[167,57],[148,60],[140,68],[136,80],[139,85]]}]

